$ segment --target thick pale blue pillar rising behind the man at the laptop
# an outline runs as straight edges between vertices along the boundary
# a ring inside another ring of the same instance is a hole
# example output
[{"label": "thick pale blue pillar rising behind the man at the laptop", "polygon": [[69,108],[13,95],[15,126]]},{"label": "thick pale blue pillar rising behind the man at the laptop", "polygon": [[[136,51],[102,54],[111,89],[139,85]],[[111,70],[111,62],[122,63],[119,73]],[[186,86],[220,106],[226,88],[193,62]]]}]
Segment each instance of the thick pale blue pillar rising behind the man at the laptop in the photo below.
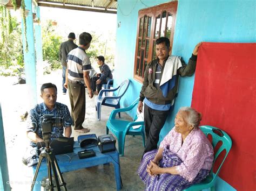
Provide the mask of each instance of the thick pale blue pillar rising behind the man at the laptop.
[{"label": "thick pale blue pillar rising behind the man at the laptop", "polygon": [[26,87],[29,100],[29,108],[37,104],[37,88],[36,88],[36,58],[35,58],[35,40],[33,33],[33,14],[32,1],[25,0],[26,10],[29,11],[26,17],[26,40],[28,41],[28,50],[26,50],[26,40],[24,32],[24,20],[22,19],[22,41],[23,54],[25,62]]}]

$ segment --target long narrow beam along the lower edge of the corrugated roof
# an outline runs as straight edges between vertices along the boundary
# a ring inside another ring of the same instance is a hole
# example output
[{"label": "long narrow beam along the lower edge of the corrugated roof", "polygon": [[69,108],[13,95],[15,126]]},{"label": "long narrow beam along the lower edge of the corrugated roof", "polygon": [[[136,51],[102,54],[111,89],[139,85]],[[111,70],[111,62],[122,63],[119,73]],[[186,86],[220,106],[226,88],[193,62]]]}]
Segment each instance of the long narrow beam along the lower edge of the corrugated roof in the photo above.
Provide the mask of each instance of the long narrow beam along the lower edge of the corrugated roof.
[{"label": "long narrow beam along the lower edge of the corrugated roof", "polygon": [[60,9],[70,9],[70,10],[77,10],[77,11],[91,11],[91,12],[103,12],[103,13],[112,13],[116,14],[117,11],[105,10],[105,9],[92,9],[83,6],[70,6],[70,5],[63,5],[63,4],[50,4],[45,2],[38,2],[38,6],[46,6],[50,8],[60,8]]}]

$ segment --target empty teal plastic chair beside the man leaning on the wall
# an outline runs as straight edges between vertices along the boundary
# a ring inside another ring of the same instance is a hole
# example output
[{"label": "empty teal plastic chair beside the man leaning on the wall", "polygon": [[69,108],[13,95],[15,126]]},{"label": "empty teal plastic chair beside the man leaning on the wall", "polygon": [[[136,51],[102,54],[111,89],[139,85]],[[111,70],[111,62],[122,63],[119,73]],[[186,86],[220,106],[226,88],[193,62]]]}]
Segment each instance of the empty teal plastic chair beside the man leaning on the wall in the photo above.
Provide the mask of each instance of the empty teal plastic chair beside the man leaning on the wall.
[{"label": "empty teal plastic chair beside the man leaning on the wall", "polygon": [[[124,155],[124,143],[126,135],[140,135],[143,139],[143,146],[145,147],[145,131],[144,131],[144,121],[134,122],[137,116],[134,117],[134,121],[117,120],[116,115],[119,112],[130,111],[132,108],[138,105],[139,98],[134,101],[129,107],[122,109],[114,109],[106,123],[106,133],[109,134],[109,130],[117,137],[118,140],[118,151],[121,156]],[[141,125],[138,129],[133,129],[132,126]]]}]

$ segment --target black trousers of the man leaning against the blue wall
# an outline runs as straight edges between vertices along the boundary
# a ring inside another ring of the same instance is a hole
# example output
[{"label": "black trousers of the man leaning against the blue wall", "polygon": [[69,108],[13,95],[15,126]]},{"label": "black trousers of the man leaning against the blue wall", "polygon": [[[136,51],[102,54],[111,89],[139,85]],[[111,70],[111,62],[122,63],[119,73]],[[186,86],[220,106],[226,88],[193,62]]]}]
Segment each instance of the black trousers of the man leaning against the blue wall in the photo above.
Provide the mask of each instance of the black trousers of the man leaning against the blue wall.
[{"label": "black trousers of the man leaning against the blue wall", "polygon": [[169,110],[159,111],[148,107],[146,104],[144,105],[144,126],[147,137],[144,153],[157,149],[159,134],[168,114]]}]

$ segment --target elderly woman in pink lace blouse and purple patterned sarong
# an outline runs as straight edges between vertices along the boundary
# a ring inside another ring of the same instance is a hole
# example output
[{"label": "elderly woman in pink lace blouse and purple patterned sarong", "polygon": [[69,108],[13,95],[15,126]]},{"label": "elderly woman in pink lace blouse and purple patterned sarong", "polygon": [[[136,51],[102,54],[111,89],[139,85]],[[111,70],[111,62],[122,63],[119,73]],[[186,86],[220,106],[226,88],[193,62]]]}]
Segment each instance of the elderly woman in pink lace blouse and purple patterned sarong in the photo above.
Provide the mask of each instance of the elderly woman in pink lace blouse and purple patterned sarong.
[{"label": "elderly woman in pink lace blouse and purple patterned sarong", "polygon": [[182,190],[210,173],[213,147],[198,128],[200,120],[193,108],[180,108],[159,149],[144,154],[138,174],[146,190]]}]

